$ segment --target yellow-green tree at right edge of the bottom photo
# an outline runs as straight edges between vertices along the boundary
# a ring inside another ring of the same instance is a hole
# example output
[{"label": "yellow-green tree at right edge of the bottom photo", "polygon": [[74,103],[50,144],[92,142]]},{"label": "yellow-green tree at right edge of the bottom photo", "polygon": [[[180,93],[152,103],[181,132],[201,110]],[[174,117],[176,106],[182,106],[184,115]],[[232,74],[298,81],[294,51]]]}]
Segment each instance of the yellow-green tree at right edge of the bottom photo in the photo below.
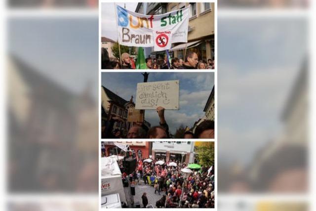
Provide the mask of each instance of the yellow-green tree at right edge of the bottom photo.
[{"label": "yellow-green tree at right edge of the bottom photo", "polygon": [[199,165],[204,167],[214,166],[214,142],[203,142],[196,149]]}]

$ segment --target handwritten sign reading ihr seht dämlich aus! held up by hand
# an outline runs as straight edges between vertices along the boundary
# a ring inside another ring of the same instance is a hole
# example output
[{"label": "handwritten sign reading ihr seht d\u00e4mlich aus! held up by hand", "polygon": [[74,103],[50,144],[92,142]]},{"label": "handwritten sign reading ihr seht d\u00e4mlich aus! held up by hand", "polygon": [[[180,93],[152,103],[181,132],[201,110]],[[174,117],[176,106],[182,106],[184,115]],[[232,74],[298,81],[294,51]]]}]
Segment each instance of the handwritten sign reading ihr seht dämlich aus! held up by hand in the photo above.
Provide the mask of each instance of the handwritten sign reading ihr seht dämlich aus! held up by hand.
[{"label": "handwritten sign reading ihr seht d\u00e4mlich aus! held up by hand", "polygon": [[135,109],[179,109],[179,80],[138,83]]}]

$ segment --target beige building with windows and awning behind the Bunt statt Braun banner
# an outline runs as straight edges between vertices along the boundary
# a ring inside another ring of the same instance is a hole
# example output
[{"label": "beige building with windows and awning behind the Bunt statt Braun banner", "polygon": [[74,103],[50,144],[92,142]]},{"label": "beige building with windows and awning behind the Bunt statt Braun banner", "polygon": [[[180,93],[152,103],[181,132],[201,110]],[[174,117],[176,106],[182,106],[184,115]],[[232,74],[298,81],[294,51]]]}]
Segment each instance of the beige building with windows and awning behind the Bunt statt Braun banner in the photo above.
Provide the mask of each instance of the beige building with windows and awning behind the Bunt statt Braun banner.
[{"label": "beige building with windows and awning behind the Bunt statt Braun banner", "polygon": [[[190,5],[190,19],[188,28],[188,42],[174,43],[169,50],[171,57],[184,59],[186,52],[195,51],[199,60],[214,58],[214,34],[215,34],[215,4],[210,2],[181,2],[181,3],[138,3],[135,12],[147,15],[158,15],[166,12],[182,9]],[[150,51],[150,52],[149,52]],[[163,61],[164,51],[153,51],[153,48],[145,49],[146,56]]]}]

